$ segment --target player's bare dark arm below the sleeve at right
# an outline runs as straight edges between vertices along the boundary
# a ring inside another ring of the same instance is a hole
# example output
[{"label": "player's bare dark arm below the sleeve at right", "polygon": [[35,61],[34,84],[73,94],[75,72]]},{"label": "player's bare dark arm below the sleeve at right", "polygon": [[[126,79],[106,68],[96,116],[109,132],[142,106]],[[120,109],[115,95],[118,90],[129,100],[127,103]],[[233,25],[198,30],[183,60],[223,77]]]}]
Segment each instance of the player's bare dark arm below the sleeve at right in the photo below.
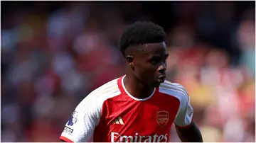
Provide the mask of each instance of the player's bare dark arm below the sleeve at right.
[{"label": "player's bare dark arm below the sleeve at right", "polygon": [[181,142],[203,142],[201,132],[195,122],[191,122],[191,125],[186,128],[175,125],[175,129]]}]

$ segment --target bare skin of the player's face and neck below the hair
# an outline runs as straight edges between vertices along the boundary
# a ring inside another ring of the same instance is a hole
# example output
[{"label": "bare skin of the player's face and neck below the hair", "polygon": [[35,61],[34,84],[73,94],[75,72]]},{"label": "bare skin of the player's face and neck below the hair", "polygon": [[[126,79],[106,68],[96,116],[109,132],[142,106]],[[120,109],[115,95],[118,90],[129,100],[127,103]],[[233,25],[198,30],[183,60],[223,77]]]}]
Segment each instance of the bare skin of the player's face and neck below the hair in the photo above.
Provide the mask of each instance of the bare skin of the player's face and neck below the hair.
[{"label": "bare skin of the player's face and neck below the hair", "polygon": [[169,54],[164,42],[138,46],[127,51],[130,54],[126,57],[128,68],[124,86],[135,98],[146,98],[154,91],[154,87],[164,82],[158,77],[166,75],[166,59]]}]

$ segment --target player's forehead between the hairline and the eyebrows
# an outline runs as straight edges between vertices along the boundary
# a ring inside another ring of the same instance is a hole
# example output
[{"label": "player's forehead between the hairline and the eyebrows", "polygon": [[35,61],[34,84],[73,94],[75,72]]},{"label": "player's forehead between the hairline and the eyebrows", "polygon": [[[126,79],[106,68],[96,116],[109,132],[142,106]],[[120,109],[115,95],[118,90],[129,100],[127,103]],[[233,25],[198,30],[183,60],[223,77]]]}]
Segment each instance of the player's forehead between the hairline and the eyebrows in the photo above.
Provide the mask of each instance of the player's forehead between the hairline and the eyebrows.
[{"label": "player's forehead between the hairline and the eyebrows", "polygon": [[168,53],[165,42],[149,43],[142,46],[142,54],[146,55],[165,55]]}]

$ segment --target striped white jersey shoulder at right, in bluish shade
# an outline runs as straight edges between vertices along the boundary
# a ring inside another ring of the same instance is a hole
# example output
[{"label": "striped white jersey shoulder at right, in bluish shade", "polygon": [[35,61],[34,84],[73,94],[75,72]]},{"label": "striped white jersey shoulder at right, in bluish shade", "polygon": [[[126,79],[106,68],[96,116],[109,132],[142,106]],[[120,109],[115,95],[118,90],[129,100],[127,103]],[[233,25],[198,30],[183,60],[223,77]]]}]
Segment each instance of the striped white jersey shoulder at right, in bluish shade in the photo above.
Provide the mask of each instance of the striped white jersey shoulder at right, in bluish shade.
[{"label": "striped white jersey shoulder at right, in bluish shade", "polygon": [[159,86],[159,92],[167,96],[174,96],[178,98],[179,101],[189,101],[188,93],[181,84],[164,81],[164,83]]}]

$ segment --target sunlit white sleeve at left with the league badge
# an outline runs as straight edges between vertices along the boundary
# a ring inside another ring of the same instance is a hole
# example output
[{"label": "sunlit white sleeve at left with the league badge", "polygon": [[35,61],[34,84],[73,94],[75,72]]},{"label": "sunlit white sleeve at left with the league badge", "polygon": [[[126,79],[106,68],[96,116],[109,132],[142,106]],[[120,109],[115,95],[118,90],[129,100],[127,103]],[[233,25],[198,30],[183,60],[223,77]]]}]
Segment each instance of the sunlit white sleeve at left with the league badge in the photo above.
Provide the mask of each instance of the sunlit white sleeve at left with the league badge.
[{"label": "sunlit white sleeve at left with the league badge", "polygon": [[100,122],[100,105],[85,98],[65,125],[60,139],[65,142],[92,142],[95,127]]}]

